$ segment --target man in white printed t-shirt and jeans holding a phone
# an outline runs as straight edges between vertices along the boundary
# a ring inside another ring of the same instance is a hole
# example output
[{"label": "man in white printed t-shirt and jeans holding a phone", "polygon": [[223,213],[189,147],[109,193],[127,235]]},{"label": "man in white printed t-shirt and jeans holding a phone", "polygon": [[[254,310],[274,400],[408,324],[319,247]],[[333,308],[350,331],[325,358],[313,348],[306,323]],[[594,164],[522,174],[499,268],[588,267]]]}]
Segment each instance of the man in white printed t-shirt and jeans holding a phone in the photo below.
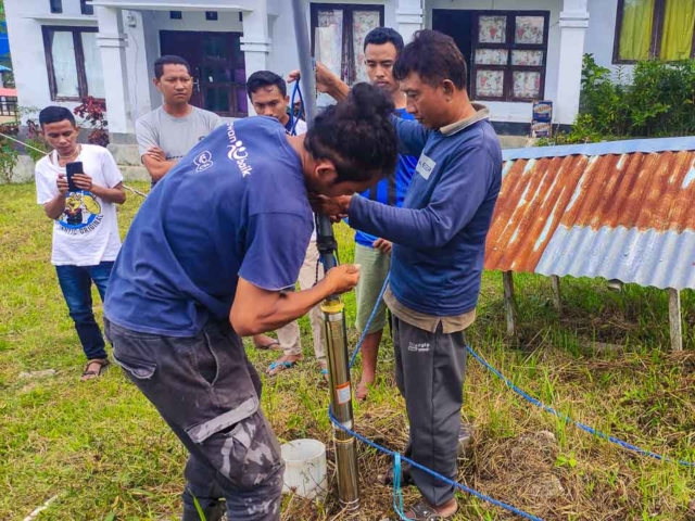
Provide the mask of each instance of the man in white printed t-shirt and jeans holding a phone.
[{"label": "man in white printed t-shirt and jeans holding a phone", "polygon": [[[39,123],[53,152],[36,164],[37,202],[54,221],[51,263],[87,357],[81,380],[91,380],[109,365],[91,284],[103,302],[121,250],[115,205],[126,200],[123,176],[106,149],[77,143],[79,129],[67,109],[48,106]],[[72,176],[74,186],[66,177],[68,163],[83,164],[84,174]]]}]

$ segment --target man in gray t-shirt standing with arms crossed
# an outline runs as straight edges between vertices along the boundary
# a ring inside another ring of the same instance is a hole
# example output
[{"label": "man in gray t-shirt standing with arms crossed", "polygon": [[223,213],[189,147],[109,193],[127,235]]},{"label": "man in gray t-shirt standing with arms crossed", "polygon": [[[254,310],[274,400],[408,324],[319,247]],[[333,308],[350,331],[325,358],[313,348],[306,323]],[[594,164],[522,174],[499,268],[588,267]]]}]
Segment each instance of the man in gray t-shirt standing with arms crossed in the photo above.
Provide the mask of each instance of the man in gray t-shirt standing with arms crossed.
[{"label": "man in gray t-shirt standing with arms crossed", "polygon": [[182,58],[168,55],[154,62],[153,81],[164,103],[135,124],[140,158],[152,177],[152,186],[222,125],[217,114],[189,104],[193,78]]}]

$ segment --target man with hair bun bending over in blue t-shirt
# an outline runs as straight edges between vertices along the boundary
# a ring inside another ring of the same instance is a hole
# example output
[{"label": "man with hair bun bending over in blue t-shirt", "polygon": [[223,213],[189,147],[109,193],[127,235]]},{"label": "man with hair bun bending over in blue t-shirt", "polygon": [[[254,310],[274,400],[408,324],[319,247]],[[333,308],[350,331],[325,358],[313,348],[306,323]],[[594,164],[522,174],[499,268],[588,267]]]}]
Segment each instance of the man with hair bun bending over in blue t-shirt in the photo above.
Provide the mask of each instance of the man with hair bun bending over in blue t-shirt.
[{"label": "man with hair bun bending over in blue t-shirt", "polygon": [[[313,230],[307,191],[365,190],[390,174],[393,103],[358,85],[305,136],[251,117],[214,130],[159,182],[128,231],[104,304],[114,359],[188,448],[184,520],[279,520],[285,466],[240,335],[351,290],[357,266],[293,288]],[[279,196],[281,194],[281,196]],[[231,326],[230,326],[231,322]]]}]

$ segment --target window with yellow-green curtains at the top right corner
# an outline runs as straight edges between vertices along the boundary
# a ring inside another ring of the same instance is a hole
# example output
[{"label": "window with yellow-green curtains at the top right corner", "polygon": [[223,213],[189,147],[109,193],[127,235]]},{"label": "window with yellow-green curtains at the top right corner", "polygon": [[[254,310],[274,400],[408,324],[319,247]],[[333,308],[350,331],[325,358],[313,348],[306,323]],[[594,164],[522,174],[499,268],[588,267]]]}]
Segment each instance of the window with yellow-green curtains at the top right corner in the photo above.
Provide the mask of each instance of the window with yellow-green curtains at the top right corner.
[{"label": "window with yellow-green curtains at the top right corner", "polygon": [[695,0],[618,0],[614,62],[693,58]]}]

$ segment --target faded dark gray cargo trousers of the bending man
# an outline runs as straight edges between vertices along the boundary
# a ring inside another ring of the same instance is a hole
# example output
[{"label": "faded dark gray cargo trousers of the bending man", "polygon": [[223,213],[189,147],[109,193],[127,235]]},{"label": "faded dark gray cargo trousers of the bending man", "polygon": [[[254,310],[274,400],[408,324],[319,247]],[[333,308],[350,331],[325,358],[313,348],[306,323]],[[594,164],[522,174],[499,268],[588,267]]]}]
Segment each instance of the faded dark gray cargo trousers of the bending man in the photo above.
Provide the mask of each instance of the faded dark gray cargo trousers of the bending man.
[{"label": "faded dark gray cargo trousers of the bending man", "polygon": [[139,333],[108,320],[113,355],[189,452],[184,520],[276,521],[285,463],[260,408],[261,380],[228,322],[194,338]]}]

